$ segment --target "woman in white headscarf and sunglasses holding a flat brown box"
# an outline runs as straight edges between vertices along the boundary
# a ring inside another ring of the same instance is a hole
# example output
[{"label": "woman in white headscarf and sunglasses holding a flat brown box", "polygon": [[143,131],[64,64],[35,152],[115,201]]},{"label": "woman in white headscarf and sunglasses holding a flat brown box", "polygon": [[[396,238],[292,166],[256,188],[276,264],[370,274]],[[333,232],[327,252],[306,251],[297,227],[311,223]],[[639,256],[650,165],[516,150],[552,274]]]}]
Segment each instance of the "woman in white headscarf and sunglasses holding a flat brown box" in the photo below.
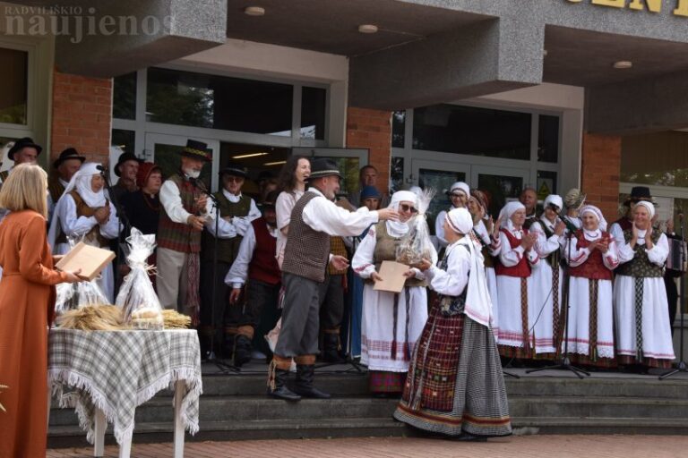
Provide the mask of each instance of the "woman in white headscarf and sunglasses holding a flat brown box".
[{"label": "woman in white headscarf and sunglasses holding a flat brown box", "polygon": [[[411,191],[392,194],[390,208],[399,211],[399,221],[381,221],[371,226],[351,260],[354,272],[366,280],[361,363],[368,366],[370,390],[375,394],[401,393],[411,352],[426,324],[426,281],[417,268],[409,269],[400,293],[374,290],[374,282],[382,279],[378,273],[382,262],[397,259],[397,248],[402,238],[409,234],[417,202],[417,195]],[[431,258],[436,261],[437,254],[429,240],[427,245]]]}]

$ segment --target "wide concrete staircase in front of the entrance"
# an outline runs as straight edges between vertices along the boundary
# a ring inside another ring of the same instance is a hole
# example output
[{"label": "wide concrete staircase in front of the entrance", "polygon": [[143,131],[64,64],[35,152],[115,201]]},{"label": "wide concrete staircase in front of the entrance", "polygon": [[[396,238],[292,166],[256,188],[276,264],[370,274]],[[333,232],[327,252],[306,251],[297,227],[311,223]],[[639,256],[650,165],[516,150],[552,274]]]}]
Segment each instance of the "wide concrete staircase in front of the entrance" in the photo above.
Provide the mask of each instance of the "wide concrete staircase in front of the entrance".
[{"label": "wide concrete staircase in front of the entrance", "polygon": [[[264,366],[261,368],[264,370]],[[321,369],[325,370],[325,369]],[[579,380],[547,370],[507,377],[512,425],[517,434],[686,434],[688,377],[595,373]],[[201,431],[187,440],[300,437],[382,437],[417,434],[392,420],[396,402],[367,393],[366,375],[317,373],[316,385],[335,396],[286,403],[265,395],[262,371],[204,375]],[[161,392],[136,411],[134,442],[172,439],[171,392]],[[48,445],[86,445],[71,410],[52,409]],[[111,436],[107,440],[113,441]]]}]

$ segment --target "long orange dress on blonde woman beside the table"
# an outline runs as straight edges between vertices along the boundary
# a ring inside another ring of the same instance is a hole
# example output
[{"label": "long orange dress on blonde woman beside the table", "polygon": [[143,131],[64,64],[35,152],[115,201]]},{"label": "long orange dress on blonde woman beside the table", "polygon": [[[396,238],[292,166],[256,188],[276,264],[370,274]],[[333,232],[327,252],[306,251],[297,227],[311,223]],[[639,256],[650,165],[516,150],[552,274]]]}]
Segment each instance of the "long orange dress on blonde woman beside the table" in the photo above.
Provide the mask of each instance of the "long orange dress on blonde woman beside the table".
[{"label": "long orange dress on blonde woman beside the table", "polygon": [[46,456],[47,327],[55,285],[46,220],[34,211],[7,215],[0,223],[0,457]]}]

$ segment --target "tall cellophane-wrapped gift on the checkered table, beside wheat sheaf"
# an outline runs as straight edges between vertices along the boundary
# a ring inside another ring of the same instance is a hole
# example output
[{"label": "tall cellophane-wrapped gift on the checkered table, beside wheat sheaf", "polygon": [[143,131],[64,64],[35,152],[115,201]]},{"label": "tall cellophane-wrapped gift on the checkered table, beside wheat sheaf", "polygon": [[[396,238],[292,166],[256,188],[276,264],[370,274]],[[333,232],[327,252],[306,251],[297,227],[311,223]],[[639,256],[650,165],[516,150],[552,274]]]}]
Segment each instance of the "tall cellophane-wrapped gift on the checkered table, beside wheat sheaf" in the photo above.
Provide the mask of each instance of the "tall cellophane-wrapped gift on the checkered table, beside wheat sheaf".
[{"label": "tall cellophane-wrapped gift on the checkered table, beside wheat sheaf", "polygon": [[148,264],[155,250],[155,234],[143,234],[133,227],[126,242],[129,245],[126,264],[131,271],[125,276],[115,303],[122,307],[125,323],[134,329],[160,330],[164,327],[162,307],[148,277],[155,268]]}]

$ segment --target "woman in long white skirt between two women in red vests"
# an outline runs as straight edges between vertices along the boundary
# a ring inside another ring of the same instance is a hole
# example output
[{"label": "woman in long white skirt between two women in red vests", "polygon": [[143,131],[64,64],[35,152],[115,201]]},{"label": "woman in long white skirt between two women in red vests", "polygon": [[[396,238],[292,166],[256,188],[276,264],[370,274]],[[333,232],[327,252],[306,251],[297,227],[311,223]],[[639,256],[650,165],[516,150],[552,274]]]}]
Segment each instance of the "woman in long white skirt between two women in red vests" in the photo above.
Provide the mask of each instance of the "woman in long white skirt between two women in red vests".
[{"label": "woman in long white skirt between two women in red vests", "polygon": [[536,289],[532,301],[536,310],[533,334],[538,359],[554,359],[560,342],[563,270],[559,265],[559,249],[566,228],[559,219],[562,208],[562,198],[550,194],[545,199],[542,215],[530,226],[530,233],[537,237],[535,250],[541,259],[538,268],[532,273],[533,286]]}]

